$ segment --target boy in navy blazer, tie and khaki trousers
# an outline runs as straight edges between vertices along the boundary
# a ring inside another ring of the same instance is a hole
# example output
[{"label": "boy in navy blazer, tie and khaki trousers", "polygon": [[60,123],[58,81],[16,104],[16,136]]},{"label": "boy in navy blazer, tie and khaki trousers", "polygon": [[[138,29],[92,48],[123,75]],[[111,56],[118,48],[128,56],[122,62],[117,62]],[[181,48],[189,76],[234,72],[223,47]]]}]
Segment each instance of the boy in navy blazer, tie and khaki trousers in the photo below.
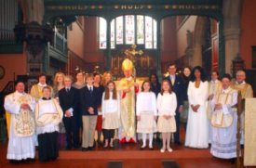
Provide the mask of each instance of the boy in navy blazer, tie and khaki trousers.
[{"label": "boy in navy blazer, tie and khaki trousers", "polygon": [[83,121],[82,151],[92,150],[101,94],[93,86],[93,75],[88,74],[87,85],[81,89],[80,104]]}]

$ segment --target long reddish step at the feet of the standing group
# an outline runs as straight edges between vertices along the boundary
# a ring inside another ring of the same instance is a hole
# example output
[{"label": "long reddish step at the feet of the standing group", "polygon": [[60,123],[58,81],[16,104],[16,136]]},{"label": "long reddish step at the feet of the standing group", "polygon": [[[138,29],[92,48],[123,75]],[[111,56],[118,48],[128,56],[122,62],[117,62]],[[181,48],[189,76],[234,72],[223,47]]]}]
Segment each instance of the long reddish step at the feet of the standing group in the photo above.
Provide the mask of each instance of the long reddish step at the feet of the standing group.
[{"label": "long reddish step at the feet of the standing group", "polygon": [[193,159],[193,158],[212,158],[209,149],[176,149],[169,153],[161,153],[155,150],[94,150],[82,152],[79,150],[60,151],[60,160],[141,160],[141,159]]}]

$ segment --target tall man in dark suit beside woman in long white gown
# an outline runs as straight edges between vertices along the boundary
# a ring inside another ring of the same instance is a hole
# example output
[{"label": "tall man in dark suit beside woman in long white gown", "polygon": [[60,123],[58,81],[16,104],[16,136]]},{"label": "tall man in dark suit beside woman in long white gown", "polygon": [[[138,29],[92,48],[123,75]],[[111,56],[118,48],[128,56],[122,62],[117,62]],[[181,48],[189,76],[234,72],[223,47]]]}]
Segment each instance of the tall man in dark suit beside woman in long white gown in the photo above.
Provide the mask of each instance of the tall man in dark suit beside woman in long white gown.
[{"label": "tall man in dark suit beside woman in long white gown", "polygon": [[168,76],[165,80],[168,80],[172,86],[172,90],[175,92],[177,97],[177,110],[175,115],[175,121],[177,126],[177,131],[174,134],[174,143],[181,145],[180,141],[180,112],[183,110],[183,100],[184,95],[186,94],[184,91],[184,83],[182,77],[176,74],[177,68],[175,64],[170,64],[168,66]]}]

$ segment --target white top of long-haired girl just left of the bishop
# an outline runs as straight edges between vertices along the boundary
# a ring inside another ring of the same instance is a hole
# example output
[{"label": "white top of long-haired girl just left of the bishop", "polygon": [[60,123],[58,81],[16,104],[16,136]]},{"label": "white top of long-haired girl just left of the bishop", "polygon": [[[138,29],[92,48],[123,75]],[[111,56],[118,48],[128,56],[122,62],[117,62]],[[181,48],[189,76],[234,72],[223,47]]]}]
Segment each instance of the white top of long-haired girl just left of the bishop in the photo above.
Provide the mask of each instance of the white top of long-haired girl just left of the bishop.
[{"label": "white top of long-haired girl just left of the bishop", "polygon": [[104,97],[105,97],[105,92],[102,95],[102,103],[101,103],[102,117],[105,116],[105,113],[114,113],[114,112],[117,112],[119,116],[120,115],[119,95],[117,94],[116,99],[113,99],[113,92],[110,92],[109,99],[104,99]]}]

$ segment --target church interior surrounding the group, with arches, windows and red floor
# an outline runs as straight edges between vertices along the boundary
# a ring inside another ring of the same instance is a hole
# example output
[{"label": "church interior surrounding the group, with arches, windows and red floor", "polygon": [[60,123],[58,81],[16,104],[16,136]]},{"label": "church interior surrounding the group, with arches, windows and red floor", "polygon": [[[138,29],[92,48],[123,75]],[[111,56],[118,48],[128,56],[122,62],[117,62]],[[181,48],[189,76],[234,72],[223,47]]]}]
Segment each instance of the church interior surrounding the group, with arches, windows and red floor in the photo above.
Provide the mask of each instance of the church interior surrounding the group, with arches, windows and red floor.
[{"label": "church interior surrounding the group, with arches, windows and red floor", "polygon": [[[58,71],[73,77],[110,71],[119,81],[125,58],[141,80],[152,73],[163,79],[169,64],[176,65],[177,73],[201,66],[207,76],[219,71],[235,77],[244,70],[255,97],[255,8],[255,0],[0,0],[1,167],[15,166],[6,159],[4,99],[16,80],[29,91],[42,72],[49,84]],[[181,127],[182,144],[184,135]],[[153,151],[141,151],[137,144],[117,146],[91,152],[61,149],[56,162],[23,166],[237,167],[212,157],[209,149],[173,144],[174,152],[162,154],[156,145]]]}]

